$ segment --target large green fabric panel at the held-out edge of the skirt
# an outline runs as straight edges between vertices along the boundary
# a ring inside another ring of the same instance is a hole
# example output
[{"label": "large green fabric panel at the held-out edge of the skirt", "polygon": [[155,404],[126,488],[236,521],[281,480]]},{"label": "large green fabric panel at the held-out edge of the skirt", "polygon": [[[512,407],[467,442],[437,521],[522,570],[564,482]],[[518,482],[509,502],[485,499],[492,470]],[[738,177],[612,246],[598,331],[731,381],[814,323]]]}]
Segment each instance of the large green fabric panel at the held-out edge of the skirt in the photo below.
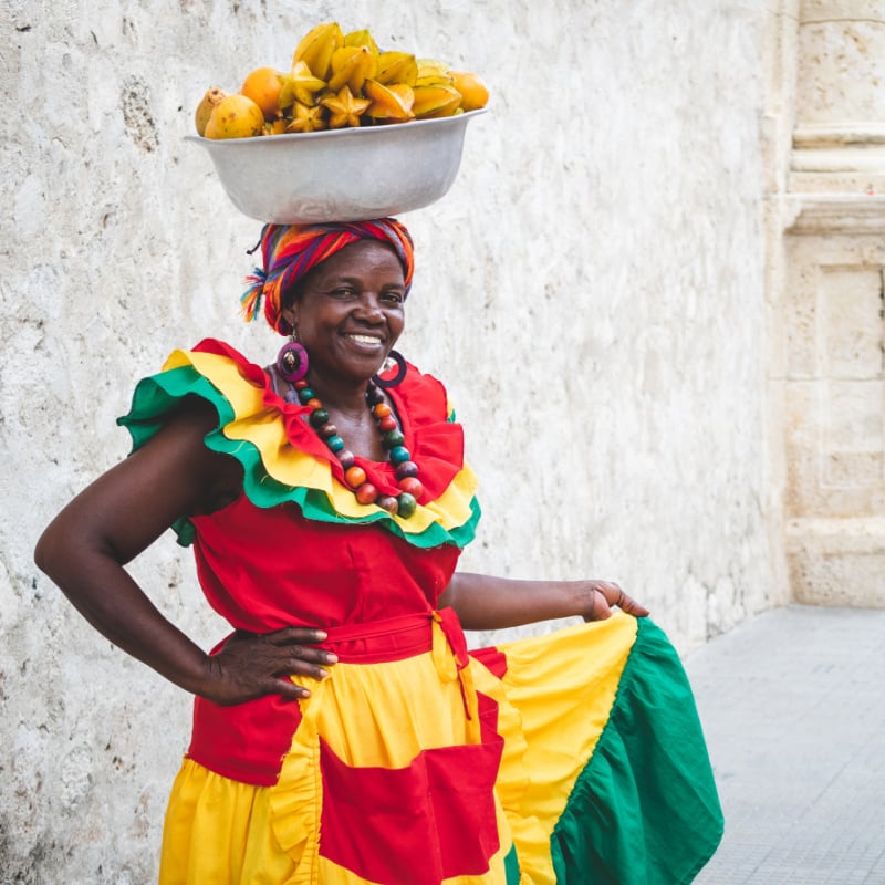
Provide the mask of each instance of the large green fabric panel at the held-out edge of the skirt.
[{"label": "large green fabric panel at the held-out edge of the skirt", "polygon": [[722,813],[691,689],[648,618],[608,721],[551,837],[560,885],[691,882],[722,837]]}]

